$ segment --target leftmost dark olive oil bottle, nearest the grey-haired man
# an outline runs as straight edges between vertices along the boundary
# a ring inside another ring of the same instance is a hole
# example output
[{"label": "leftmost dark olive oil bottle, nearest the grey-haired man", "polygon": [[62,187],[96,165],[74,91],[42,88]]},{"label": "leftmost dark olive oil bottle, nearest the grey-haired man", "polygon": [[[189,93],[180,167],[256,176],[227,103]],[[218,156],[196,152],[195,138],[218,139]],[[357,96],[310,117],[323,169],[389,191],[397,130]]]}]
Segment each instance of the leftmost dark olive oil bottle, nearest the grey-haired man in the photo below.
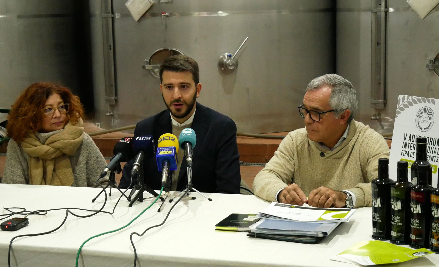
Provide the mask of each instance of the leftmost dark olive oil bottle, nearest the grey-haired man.
[{"label": "leftmost dark olive oil bottle, nearest the grey-haired man", "polygon": [[389,240],[391,228],[389,159],[378,159],[378,177],[372,180],[372,238]]}]

